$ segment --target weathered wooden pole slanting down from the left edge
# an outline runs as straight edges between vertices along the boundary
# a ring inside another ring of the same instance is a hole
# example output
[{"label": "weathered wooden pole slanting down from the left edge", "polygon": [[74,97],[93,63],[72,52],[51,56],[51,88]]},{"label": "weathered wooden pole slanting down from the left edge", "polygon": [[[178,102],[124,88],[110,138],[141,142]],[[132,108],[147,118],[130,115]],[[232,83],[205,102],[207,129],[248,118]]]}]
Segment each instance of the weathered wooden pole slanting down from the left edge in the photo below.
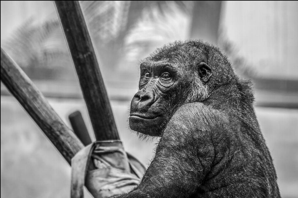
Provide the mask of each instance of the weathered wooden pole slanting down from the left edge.
[{"label": "weathered wooden pole slanting down from the left edge", "polygon": [[84,145],[65,125],[30,78],[2,48],[1,81],[70,164],[71,158]]}]

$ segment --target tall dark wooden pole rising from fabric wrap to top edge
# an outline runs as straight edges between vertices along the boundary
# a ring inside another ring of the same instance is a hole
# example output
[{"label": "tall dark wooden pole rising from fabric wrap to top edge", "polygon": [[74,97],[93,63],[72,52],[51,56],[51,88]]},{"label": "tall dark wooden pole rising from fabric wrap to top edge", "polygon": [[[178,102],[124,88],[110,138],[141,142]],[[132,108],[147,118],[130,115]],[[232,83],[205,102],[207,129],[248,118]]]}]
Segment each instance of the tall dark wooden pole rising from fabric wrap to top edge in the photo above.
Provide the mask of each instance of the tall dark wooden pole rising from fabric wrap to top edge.
[{"label": "tall dark wooden pole rising from fabric wrap to top edge", "polygon": [[79,1],[55,1],[97,140],[120,139]]}]

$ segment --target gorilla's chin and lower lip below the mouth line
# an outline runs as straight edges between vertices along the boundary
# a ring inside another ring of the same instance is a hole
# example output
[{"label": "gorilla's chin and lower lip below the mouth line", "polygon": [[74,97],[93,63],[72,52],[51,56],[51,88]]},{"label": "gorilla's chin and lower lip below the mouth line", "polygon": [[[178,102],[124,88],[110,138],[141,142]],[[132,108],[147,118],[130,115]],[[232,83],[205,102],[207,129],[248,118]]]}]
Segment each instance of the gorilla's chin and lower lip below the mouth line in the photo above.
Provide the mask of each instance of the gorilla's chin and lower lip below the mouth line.
[{"label": "gorilla's chin and lower lip below the mouth line", "polygon": [[160,125],[162,125],[162,123],[163,118],[161,116],[152,119],[146,119],[138,116],[129,117],[129,127],[131,130],[150,136],[160,136]]}]

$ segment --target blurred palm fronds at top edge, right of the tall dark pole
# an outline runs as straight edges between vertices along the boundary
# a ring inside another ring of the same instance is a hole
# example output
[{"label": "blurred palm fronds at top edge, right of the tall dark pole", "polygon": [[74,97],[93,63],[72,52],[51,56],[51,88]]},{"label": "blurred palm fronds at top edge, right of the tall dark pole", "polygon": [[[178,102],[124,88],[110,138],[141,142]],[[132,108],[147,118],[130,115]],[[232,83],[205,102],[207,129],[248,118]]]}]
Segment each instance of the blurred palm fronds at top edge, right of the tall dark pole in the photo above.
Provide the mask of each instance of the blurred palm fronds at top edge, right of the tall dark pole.
[{"label": "blurred palm fronds at top edge, right of the tall dark pole", "polygon": [[[96,39],[106,43],[117,37],[123,38],[142,18],[144,9],[157,8],[160,13],[170,11],[174,2],[186,11],[183,1],[80,1],[87,22]],[[110,37],[110,38],[109,38]],[[118,39],[119,40],[119,39]],[[122,39],[123,40],[123,39]]]}]

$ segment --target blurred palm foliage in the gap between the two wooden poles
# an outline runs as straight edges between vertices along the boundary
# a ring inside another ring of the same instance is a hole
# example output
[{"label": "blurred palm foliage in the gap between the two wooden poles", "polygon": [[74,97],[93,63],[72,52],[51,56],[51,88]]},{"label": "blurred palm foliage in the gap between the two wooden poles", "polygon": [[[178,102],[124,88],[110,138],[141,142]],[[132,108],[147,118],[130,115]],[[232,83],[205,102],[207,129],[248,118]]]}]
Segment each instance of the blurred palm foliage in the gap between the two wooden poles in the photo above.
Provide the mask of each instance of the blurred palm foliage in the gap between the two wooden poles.
[{"label": "blurred palm foliage in the gap between the two wooden poles", "polygon": [[1,47],[30,78],[75,78],[68,75],[73,67],[59,20],[39,24],[30,18]]}]

